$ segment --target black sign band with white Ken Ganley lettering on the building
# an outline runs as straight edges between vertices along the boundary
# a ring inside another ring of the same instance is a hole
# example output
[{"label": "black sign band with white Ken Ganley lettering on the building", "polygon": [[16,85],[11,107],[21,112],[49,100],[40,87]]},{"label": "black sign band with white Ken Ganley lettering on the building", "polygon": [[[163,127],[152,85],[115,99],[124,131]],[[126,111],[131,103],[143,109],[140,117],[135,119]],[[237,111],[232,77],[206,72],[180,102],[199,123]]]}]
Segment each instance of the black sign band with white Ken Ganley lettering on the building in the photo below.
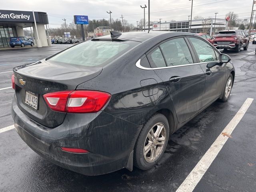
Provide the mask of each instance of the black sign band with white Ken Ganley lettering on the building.
[{"label": "black sign band with white Ken Ganley lettering on the building", "polygon": [[[34,12],[36,22],[38,19],[38,12]],[[12,11],[12,10],[0,10],[0,21],[5,22],[34,22],[32,11]]]}]

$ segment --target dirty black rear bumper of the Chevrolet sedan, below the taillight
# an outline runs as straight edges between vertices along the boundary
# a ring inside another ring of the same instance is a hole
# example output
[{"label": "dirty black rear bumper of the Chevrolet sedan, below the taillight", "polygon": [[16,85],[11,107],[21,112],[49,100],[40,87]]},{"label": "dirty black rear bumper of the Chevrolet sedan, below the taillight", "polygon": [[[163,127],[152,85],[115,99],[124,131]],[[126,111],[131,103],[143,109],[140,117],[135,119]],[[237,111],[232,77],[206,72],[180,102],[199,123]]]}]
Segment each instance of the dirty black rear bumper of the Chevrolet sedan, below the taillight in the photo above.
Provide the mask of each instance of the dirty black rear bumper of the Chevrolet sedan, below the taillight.
[{"label": "dirty black rear bumper of the Chevrolet sedan, below the taillight", "polygon": [[[12,103],[19,136],[40,156],[63,168],[85,175],[100,175],[126,168],[141,126],[105,112],[67,114],[56,128],[44,127]],[[82,148],[89,153],[64,152],[60,147]]]}]

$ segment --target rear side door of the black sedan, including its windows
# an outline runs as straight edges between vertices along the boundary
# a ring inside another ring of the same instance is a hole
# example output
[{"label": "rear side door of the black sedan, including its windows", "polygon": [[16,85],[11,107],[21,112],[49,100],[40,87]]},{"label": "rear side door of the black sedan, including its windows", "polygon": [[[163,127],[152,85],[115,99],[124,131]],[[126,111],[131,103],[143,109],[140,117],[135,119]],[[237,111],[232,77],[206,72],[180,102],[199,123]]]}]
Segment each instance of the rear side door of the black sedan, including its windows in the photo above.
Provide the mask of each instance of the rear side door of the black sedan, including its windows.
[{"label": "rear side door of the black sedan, including its windows", "polygon": [[187,40],[180,37],[163,42],[147,57],[166,86],[178,121],[184,122],[196,114],[202,108],[205,75]]}]

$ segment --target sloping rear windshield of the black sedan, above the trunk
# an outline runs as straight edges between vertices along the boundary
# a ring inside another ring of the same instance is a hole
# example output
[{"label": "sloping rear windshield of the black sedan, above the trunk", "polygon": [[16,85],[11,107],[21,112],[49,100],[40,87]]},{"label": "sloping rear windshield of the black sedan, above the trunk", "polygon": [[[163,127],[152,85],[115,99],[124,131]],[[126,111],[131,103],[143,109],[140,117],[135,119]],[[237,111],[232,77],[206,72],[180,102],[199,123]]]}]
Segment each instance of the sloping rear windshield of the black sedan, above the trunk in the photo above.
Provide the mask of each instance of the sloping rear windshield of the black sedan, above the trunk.
[{"label": "sloping rear windshield of the black sedan, above the trunk", "polygon": [[139,42],[134,41],[88,40],[53,56],[48,61],[87,67],[105,66],[138,44]]}]

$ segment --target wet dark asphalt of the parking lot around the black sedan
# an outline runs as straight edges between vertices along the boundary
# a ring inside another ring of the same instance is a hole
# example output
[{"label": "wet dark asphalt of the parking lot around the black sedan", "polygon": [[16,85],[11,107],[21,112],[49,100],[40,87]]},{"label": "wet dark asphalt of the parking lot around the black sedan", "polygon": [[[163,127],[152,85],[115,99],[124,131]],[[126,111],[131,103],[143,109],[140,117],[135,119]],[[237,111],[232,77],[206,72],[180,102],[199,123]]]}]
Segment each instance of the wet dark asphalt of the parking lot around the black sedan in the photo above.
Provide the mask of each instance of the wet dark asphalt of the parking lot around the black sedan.
[{"label": "wet dark asphalt of the parking lot around the black sedan", "polygon": [[[19,63],[44,58],[62,48],[61,45],[55,45],[36,51],[8,50],[4,54],[1,51],[0,88],[11,86],[12,74],[1,72],[11,71]],[[246,99],[252,98],[254,100],[234,128],[231,137],[216,154],[193,189],[194,192],[254,192],[256,55],[252,52],[255,48],[256,45],[250,43],[247,51],[225,52],[231,56],[236,68],[230,100],[224,103],[214,102],[175,132],[170,137],[162,161],[151,170],[134,168],[130,172],[123,169],[102,176],[77,174],[38,156],[21,140],[16,131],[11,129],[0,132],[0,191],[176,191],[238,113]],[[0,90],[0,128],[13,124],[10,115],[13,94],[11,88]]]}]

